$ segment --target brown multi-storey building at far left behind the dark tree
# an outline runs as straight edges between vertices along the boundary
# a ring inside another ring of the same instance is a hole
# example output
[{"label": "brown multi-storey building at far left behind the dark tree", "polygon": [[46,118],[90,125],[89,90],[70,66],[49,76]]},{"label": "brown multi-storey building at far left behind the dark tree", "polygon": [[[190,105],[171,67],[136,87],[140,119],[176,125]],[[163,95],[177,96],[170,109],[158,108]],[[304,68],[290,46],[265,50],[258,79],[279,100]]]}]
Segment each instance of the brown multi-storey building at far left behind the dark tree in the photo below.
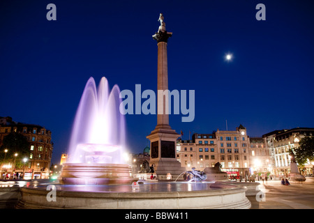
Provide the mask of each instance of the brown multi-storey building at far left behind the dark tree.
[{"label": "brown multi-storey building at far left behind the dark tree", "polygon": [[[7,121],[4,121],[6,119]],[[52,132],[40,125],[16,123],[12,118],[1,118],[0,146],[4,137],[10,132],[23,134],[29,141],[29,157],[23,169],[15,169],[15,173],[24,173],[24,179],[48,178],[50,174],[50,162],[52,158],[53,143]],[[7,169],[11,174],[14,167]]]}]

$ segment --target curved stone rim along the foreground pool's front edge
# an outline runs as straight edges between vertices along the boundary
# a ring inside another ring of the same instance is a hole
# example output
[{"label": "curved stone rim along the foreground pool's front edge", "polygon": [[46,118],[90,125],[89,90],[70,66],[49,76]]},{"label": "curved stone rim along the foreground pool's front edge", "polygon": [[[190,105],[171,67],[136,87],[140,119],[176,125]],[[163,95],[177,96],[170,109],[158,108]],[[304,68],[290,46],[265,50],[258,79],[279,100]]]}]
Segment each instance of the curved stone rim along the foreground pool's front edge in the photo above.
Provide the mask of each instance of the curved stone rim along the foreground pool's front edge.
[{"label": "curved stone rim along the foreground pool's front edge", "polygon": [[[225,194],[234,194],[239,192],[246,192],[247,187],[241,185],[224,185],[223,183],[213,183],[215,190],[193,190],[193,191],[179,191],[179,192],[84,192],[84,191],[66,191],[57,190],[57,197],[80,197],[80,198],[119,198],[119,199],[164,199],[164,198],[186,198],[186,197],[204,197],[204,196],[219,196]],[[21,192],[28,194],[42,194],[48,193],[45,188],[27,188],[22,187]]]}]

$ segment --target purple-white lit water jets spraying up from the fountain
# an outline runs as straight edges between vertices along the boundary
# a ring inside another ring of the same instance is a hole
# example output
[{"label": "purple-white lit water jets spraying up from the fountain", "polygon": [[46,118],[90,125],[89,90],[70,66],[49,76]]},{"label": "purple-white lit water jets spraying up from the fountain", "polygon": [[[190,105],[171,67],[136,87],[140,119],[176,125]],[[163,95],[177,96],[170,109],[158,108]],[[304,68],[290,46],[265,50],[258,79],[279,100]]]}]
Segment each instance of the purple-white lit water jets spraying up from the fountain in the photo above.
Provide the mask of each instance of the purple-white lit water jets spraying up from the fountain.
[{"label": "purple-white lit water jets spraying up from the fountain", "polygon": [[90,77],[77,107],[68,149],[69,163],[125,164],[125,120],[119,112],[119,86],[110,92],[102,77]]}]

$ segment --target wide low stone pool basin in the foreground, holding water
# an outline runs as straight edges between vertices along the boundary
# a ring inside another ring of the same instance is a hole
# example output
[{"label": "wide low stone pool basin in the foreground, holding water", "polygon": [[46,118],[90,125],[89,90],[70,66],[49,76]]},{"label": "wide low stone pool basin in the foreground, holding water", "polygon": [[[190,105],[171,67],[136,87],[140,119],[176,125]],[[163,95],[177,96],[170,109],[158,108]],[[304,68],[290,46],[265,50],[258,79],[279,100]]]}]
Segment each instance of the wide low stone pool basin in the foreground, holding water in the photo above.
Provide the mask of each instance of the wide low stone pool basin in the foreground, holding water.
[{"label": "wide low stone pool basin in the foreground, holding water", "polygon": [[23,187],[16,208],[185,209],[251,208],[246,187],[213,183],[56,185],[57,201],[47,201],[47,185]]}]

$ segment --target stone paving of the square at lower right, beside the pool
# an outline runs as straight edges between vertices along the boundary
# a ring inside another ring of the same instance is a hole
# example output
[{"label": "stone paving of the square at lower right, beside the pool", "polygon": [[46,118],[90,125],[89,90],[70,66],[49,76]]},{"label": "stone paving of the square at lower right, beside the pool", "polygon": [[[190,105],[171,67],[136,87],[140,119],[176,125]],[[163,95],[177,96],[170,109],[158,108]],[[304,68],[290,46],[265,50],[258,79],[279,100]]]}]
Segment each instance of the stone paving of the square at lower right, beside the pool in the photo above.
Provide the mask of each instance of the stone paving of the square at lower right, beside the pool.
[{"label": "stone paving of the square at lower right, beside the pool", "polygon": [[313,177],[307,177],[304,183],[290,181],[287,186],[281,185],[280,180],[257,182],[265,194],[258,209],[314,209]]}]

